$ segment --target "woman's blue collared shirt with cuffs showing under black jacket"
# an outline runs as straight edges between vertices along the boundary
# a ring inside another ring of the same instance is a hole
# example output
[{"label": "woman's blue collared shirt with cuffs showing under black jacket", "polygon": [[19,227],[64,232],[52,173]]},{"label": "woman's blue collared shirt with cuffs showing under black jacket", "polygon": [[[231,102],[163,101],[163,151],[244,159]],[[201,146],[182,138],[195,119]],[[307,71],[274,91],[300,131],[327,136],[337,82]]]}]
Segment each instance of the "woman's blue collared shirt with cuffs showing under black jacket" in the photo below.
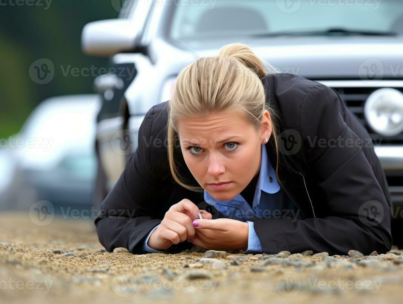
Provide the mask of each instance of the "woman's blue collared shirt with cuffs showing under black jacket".
[{"label": "woman's blue collared shirt with cuffs showing under black jacket", "polygon": [[[206,203],[213,205],[214,208],[222,214],[220,217],[241,220],[242,222],[248,223],[248,247],[245,253],[262,252],[262,246],[253,227],[252,219],[287,217],[302,219],[299,210],[297,210],[291,199],[289,199],[288,195],[277,182],[276,172],[268,159],[266,146],[261,145],[261,147],[262,161],[252,207],[241,194],[227,201],[219,201],[214,199],[207,191],[204,191],[204,200]],[[150,231],[143,241],[142,249],[144,251],[163,252],[147,246],[148,238],[157,227],[158,225]]]}]

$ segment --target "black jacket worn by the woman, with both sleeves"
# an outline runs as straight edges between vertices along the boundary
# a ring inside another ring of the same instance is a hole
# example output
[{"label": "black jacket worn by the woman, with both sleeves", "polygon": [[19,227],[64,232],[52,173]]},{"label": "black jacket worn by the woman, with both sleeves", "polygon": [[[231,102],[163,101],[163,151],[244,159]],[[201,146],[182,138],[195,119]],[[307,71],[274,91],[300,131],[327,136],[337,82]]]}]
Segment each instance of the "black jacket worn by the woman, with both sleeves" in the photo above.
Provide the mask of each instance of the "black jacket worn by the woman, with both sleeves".
[{"label": "black jacket worn by the woman, with both sleeves", "polygon": [[[366,255],[373,250],[389,251],[391,195],[370,135],[361,121],[337,92],[318,82],[277,73],[262,78],[262,83],[266,102],[281,118],[284,147],[279,176],[304,218],[255,219],[262,251],[274,254],[282,250],[313,250],[330,255],[347,254],[350,249]],[[170,173],[167,102],[153,106],[145,115],[138,148],[101,204],[95,224],[99,240],[109,252],[115,247],[126,247],[135,254],[145,253],[140,249],[145,236],[162,221],[171,205],[184,198],[206,209],[203,193],[179,186]],[[271,136],[266,149],[276,168],[273,147]],[[180,149],[177,159],[188,184],[199,185]],[[213,218],[220,217],[215,208],[206,210]],[[168,251],[180,252],[192,246],[184,241]]]}]

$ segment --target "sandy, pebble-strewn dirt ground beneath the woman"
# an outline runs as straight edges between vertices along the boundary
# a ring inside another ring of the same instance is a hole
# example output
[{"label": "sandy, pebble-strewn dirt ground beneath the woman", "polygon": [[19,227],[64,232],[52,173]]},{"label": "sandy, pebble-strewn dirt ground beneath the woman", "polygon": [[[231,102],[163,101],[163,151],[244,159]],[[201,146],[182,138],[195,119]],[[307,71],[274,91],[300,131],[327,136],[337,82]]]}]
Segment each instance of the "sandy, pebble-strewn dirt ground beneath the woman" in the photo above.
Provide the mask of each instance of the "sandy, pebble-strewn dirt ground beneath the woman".
[{"label": "sandy, pebble-strewn dirt ground beneath the woman", "polygon": [[206,258],[198,250],[108,253],[91,220],[55,218],[37,226],[26,213],[2,213],[0,302],[402,301],[403,256],[397,252],[361,258],[225,252]]}]

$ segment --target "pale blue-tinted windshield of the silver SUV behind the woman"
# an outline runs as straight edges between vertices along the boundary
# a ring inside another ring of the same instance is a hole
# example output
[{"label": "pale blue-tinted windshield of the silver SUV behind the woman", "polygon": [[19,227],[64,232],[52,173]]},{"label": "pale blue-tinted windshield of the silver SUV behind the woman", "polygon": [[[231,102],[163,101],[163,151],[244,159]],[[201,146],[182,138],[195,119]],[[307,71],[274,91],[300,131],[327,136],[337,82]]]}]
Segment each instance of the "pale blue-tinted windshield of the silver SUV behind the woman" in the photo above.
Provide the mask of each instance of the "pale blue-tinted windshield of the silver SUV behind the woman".
[{"label": "pale blue-tinted windshield of the silver SUV behind the woman", "polygon": [[[180,0],[170,29],[174,40],[310,32],[403,34],[401,0]],[[301,26],[302,25],[302,26]],[[341,29],[341,30],[339,30]]]}]

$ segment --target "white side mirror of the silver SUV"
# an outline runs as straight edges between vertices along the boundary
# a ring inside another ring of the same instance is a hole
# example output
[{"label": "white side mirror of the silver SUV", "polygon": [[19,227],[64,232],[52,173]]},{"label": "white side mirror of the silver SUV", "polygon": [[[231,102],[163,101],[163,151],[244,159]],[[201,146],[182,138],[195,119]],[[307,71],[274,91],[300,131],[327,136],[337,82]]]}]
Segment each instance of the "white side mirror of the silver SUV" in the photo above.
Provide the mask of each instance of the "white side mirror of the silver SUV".
[{"label": "white side mirror of the silver SUV", "polygon": [[86,55],[112,56],[133,50],[138,40],[135,23],[127,19],[108,19],[87,23],[81,32],[81,49]]}]

